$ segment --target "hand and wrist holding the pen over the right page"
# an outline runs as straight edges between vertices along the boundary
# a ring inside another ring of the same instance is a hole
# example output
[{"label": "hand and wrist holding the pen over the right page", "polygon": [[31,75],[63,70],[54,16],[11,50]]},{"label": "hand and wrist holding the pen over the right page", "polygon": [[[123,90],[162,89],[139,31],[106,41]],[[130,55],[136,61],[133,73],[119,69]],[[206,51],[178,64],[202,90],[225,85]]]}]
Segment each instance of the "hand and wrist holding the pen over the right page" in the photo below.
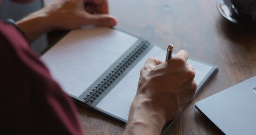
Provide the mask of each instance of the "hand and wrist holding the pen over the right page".
[{"label": "hand and wrist holding the pen over the right page", "polygon": [[182,50],[167,62],[146,61],[124,134],[160,134],[164,124],[194,100],[195,72],[187,59],[187,51]]}]

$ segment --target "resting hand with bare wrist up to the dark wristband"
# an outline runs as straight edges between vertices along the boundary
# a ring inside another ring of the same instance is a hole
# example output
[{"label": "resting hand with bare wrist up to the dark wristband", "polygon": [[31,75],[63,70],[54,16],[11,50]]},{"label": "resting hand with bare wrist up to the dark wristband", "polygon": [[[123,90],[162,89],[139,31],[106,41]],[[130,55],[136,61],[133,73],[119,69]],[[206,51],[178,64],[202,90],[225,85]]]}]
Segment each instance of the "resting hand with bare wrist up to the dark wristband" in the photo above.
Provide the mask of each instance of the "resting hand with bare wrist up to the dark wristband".
[{"label": "resting hand with bare wrist up to the dark wristband", "polygon": [[108,14],[107,0],[53,0],[46,7],[16,22],[29,42],[55,29],[95,25],[112,27],[117,19]]}]

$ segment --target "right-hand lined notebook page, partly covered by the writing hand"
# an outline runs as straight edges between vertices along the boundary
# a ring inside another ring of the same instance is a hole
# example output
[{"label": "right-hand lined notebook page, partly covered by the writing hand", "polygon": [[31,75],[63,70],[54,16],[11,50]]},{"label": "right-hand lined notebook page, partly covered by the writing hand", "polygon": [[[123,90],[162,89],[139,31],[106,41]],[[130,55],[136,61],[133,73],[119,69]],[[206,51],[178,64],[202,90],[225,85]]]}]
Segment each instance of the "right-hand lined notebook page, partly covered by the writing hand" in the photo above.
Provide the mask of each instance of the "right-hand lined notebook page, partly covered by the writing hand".
[{"label": "right-hand lined notebook page, partly covered by the writing hand", "polygon": [[[164,60],[166,51],[154,46],[154,48],[144,56],[144,58],[102,99],[101,102],[96,105],[96,107],[127,121],[131,102],[137,91],[140,70],[149,57]],[[212,67],[193,60],[188,60],[188,62],[194,66],[196,72],[195,80],[197,81],[197,84],[200,84]]]}]

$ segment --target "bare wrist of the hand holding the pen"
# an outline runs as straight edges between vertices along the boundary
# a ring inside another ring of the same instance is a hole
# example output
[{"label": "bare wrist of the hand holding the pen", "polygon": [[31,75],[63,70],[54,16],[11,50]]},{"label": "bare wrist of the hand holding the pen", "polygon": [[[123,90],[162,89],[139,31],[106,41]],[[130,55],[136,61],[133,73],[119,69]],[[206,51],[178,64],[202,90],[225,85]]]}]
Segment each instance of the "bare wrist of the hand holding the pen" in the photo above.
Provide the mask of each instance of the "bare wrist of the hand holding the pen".
[{"label": "bare wrist of the hand holding the pen", "polygon": [[136,96],[130,108],[128,123],[124,134],[161,134],[166,122],[164,110],[152,106],[152,100]]}]

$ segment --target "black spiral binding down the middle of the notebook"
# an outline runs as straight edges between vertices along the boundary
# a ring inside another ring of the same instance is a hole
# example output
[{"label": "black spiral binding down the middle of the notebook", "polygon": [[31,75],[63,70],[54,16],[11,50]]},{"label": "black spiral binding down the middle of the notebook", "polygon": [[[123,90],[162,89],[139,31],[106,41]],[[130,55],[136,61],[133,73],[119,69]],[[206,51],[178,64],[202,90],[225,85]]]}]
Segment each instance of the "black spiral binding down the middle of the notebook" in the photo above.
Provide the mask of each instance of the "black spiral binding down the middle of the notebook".
[{"label": "black spiral binding down the middle of the notebook", "polygon": [[142,41],[134,50],[127,55],[92,91],[84,98],[85,103],[93,102],[102,92],[104,92],[136,58],[148,48],[149,42]]}]

